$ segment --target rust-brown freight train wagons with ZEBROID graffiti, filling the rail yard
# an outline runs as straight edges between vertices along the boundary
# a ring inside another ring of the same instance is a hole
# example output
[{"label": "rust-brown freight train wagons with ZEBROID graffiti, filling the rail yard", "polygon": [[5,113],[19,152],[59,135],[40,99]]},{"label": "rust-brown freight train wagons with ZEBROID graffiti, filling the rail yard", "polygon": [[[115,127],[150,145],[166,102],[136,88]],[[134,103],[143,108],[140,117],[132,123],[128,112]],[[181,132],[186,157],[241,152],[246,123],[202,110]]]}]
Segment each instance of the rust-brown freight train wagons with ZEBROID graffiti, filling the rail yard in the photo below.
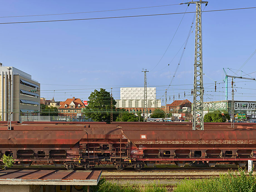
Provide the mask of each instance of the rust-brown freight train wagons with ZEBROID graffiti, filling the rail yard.
[{"label": "rust-brown freight train wagons with ZEBROID graffiti, filling the rail yard", "polygon": [[[1,123],[1,122],[0,122]],[[90,124],[88,124],[90,123]],[[157,163],[235,163],[256,160],[256,124],[206,123],[204,131],[192,131],[191,123],[13,123],[0,124],[0,156],[15,163],[53,163],[72,170],[112,164],[142,169]],[[1,160],[0,160],[1,163]]]}]

